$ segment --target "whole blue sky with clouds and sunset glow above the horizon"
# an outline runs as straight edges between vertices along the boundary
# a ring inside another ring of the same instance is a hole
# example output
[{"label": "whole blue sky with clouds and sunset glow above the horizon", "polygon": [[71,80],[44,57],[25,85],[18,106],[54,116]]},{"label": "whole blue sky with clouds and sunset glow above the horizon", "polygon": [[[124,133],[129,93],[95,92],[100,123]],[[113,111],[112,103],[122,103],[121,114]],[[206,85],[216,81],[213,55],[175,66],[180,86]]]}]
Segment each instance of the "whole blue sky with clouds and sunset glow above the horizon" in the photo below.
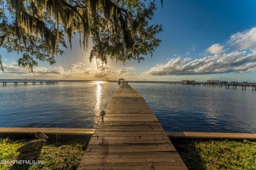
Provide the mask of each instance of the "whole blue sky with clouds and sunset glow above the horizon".
[{"label": "whole blue sky with clouds and sunset glow above the horizon", "polygon": [[108,61],[97,68],[73,39],[57,63],[38,62],[33,73],[19,67],[20,55],[1,48],[5,73],[0,79],[181,81],[222,80],[256,82],[256,1],[156,0],[151,24],[162,24],[162,43],[145,61]]}]

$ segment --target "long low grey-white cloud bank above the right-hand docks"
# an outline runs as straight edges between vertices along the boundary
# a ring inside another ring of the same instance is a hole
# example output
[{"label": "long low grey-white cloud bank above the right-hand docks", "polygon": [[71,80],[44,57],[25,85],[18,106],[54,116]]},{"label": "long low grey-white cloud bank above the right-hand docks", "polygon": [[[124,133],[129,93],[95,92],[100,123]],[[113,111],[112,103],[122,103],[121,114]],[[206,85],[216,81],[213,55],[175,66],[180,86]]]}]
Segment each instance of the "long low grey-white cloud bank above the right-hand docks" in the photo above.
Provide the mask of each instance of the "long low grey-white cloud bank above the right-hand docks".
[{"label": "long low grey-white cloud bank above the right-hand docks", "polygon": [[172,58],[166,64],[152,67],[150,75],[196,75],[217,73],[246,73],[256,71],[256,51],[215,54],[191,61],[191,58]]}]

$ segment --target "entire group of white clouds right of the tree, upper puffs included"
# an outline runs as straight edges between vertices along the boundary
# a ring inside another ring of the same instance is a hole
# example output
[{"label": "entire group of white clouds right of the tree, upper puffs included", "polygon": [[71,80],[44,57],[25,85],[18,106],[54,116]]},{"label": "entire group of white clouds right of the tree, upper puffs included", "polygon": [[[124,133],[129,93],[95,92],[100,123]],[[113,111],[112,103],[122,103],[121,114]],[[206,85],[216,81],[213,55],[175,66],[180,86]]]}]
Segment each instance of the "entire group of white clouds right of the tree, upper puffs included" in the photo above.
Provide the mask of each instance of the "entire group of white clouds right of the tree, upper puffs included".
[{"label": "entire group of white clouds right of the tree, upper puffs included", "polygon": [[229,53],[224,45],[213,44],[207,49],[209,56],[191,61],[191,58],[182,58],[177,55],[166,64],[151,67],[150,75],[196,75],[217,73],[246,73],[256,72],[256,27],[243,32],[237,32],[230,37],[229,47],[235,46],[237,50]]}]

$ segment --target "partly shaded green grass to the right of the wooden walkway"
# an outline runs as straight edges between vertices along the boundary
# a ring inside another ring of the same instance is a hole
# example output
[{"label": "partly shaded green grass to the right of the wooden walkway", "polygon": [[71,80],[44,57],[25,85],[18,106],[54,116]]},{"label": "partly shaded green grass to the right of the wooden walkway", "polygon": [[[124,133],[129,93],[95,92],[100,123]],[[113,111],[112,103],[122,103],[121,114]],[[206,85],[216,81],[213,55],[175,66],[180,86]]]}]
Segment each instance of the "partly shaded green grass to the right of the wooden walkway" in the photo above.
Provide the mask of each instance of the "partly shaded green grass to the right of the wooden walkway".
[{"label": "partly shaded green grass to the right of the wooden walkway", "polygon": [[171,140],[188,169],[256,169],[256,141]]}]

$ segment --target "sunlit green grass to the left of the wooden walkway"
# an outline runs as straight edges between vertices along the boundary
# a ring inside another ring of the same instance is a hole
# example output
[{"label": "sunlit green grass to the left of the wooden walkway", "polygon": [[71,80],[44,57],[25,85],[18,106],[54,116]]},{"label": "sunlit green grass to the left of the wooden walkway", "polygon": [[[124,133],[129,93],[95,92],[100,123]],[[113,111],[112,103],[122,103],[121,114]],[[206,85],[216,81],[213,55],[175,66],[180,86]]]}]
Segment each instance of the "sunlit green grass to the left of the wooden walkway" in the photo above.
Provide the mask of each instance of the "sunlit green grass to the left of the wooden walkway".
[{"label": "sunlit green grass to the left of the wooden walkway", "polygon": [[[19,153],[16,149],[24,145],[28,140],[16,140],[5,138],[0,139],[0,160],[14,160]],[[55,142],[46,145],[42,149],[42,154],[37,160],[43,162],[41,165],[6,165],[0,164],[0,169],[77,169],[82,159],[85,143],[60,143]]]}]

